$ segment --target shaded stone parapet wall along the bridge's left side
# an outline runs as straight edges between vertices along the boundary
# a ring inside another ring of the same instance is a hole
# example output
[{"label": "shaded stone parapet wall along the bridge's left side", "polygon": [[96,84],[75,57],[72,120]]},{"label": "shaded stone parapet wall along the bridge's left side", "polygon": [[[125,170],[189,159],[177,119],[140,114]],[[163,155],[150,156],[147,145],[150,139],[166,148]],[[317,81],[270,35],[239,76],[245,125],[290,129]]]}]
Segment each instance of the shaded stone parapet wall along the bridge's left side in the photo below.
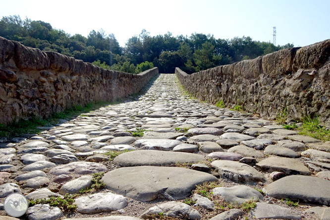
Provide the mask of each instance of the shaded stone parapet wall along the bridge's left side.
[{"label": "shaded stone parapet wall along the bridge's left side", "polygon": [[157,74],[157,67],[136,75],[106,70],[0,37],[0,123],[127,97]]}]

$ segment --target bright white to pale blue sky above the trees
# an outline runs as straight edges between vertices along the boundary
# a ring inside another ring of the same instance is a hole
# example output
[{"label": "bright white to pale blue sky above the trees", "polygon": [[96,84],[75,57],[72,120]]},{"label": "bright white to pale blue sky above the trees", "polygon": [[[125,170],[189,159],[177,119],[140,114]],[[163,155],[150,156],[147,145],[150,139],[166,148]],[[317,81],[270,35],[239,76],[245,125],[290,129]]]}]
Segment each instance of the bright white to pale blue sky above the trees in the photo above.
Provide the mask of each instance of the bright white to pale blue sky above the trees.
[{"label": "bright white to pale blue sky above the trees", "polygon": [[306,46],[330,38],[330,0],[0,0],[0,18],[42,20],[85,37],[103,28],[120,46],[141,33],[250,36],[276,45]]}]

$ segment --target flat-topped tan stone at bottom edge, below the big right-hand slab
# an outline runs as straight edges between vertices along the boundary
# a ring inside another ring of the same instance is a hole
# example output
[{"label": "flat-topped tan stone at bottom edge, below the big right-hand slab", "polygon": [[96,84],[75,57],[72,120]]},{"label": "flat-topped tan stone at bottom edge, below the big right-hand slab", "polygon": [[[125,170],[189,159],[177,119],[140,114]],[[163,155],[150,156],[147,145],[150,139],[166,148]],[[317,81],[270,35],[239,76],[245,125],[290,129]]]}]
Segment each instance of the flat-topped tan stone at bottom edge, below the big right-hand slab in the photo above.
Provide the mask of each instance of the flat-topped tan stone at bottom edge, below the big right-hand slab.
[{"label": "flat-topped tan stone at bottom edge, below the big right-hand slab", "polygon": [[256,219],[301,219],[302,217],[294,211],[267,203],[257,203],[251,211],[251,215]]}]

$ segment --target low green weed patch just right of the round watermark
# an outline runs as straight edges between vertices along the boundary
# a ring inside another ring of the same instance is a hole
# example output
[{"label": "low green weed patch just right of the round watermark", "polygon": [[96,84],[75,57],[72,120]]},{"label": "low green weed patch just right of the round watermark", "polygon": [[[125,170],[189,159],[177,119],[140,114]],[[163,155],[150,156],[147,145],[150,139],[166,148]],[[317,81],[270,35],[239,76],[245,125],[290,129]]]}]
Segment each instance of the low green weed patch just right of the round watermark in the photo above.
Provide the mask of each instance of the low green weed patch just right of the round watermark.
[{"label": "low green weed patch just right of the round watermark", "polygon": [[29,200],[29,206],[34,206],[36,204],[49,204],[50,206],[56,206],[63,211],[74,210],[77,205],[74,204],[74,198],[76,198],[78,194],[69,195],[66,193],[63,196],[63,199],[60,197],[51,197],[49,199],[36,199]]}]

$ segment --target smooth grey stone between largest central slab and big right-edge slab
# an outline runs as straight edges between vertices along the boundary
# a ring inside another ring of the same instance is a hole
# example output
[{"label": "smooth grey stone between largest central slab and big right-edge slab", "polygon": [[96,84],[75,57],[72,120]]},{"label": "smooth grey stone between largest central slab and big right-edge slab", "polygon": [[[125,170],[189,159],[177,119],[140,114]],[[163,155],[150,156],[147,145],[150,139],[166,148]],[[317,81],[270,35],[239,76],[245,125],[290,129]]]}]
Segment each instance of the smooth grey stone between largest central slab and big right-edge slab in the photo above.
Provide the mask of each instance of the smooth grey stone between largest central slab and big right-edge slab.
[{"label": "smooth grey stone between largest central slab and big right-edge slab", "polygon": [[238,185],[233,187],[217,187],[212,190],[213,195],[221,196],[221,198],[228,203],[242,204],[248,200],[263,200],[264,196],[257,190]]}]

